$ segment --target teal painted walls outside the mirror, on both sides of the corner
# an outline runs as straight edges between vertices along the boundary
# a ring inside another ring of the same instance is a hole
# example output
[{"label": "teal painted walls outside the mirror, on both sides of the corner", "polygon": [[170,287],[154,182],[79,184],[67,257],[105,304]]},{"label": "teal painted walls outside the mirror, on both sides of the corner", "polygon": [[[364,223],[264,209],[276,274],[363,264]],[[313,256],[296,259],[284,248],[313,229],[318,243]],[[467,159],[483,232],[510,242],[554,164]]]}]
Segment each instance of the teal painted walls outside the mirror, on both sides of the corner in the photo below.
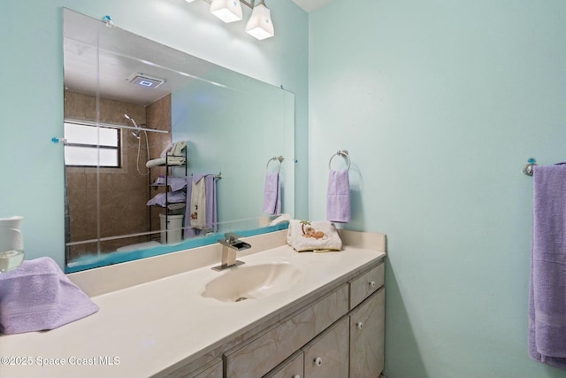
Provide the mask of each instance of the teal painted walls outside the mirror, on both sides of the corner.
[{"label": "teal painted walls outside the mirror, on both sides of the corner", "polygon": [[298,218],[325,218],[328,159],[350,151],[347,227],[388,235],[390,378],[563,377],[527,357],[521,168],[566,160],[566,3],[334,0],[309,16],[268,3],[277,36],[263,42],[200,1],[1,5],[0,216],[26,217],[28,258],[63,264],[63,150],[50,143],[62,135],[61,7],[110,14],[295,93]]}]

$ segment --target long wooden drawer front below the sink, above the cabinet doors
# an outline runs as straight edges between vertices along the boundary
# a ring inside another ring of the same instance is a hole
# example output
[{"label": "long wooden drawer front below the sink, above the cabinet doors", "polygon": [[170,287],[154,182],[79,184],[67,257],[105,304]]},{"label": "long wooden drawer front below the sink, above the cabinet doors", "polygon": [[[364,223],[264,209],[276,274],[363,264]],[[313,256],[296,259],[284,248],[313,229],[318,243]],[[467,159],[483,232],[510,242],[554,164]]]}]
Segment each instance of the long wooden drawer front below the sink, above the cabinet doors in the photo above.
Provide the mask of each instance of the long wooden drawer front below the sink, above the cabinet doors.
[{"label": "long wooden drawer front below the sink, above the cabinet doors", "polygon": [[343,285],[251,342],[226,352],[226,376],[263,376],[347,312],[348,285]]}]

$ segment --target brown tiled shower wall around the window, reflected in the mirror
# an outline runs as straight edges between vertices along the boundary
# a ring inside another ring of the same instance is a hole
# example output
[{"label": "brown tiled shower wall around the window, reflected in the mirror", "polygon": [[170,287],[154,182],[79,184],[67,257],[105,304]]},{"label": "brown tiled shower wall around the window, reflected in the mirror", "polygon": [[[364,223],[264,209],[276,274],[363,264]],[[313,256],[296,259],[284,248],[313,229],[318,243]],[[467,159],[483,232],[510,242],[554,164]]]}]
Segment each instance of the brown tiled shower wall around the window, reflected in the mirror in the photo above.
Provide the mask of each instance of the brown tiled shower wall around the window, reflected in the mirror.
[{"label": "brown tiled shower wall around the window, reflected in the mirror", "polygon": [[[142,127],[171,130],[171,99],[166,96],[149,106],[100,99],[99,121],[131,126],[128,114]],[[96,120],[96,97],[65,92],[65,119]],[[154,231],[150,226],[149,175],[146,135],[141,143],[130,130],[121,130],[121,166],[119,168],[68,167],[65,169],[69,210],[70,242]],[[147,133],[149,156],[155,158],[171,141],[171,133]],[[138,159],[139,149],[139,159]],[[157,152],[158,150],[158,152]],[[139,171],[139,172],[138,172]],[[157,213],[152,210],[151,212]],[[98,215],[98,216],[97,216]],[[100,231],[98,229],[100,228]],[[116,251],[117,248],[149,241],[150,236],[112,239],[101,243],[83,243],[67,249],[67,261],[97,251]]]}]

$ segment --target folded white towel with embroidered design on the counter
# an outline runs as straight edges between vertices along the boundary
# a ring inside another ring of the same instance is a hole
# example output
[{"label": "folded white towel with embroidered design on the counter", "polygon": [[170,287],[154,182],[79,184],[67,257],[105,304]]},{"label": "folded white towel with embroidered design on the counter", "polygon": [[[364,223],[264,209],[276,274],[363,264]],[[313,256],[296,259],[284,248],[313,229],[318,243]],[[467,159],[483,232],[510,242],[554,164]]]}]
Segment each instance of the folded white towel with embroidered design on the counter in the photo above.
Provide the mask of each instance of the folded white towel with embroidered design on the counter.
[{"label": "folded white towel with embroidered design on the counter", "polygon": [[338,231],[327,220],[289,220],[287,244],[297,252],[330,252],[342,248]]}]

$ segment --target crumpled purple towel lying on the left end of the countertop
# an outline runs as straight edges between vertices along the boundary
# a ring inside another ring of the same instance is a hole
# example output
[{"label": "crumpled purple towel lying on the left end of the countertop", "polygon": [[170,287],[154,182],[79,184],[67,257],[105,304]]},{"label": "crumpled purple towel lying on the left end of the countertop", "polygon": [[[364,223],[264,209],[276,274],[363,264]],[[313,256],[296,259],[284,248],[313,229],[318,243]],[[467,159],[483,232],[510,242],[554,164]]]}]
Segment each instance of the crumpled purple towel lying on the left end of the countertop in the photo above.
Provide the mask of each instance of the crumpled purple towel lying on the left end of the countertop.
[{"label": "crumpled purple towel lying on the left end of the countertop", "polygon": [[6,335],[61,327],[97,311],[51,258],[0,274],[0,332]]}]

